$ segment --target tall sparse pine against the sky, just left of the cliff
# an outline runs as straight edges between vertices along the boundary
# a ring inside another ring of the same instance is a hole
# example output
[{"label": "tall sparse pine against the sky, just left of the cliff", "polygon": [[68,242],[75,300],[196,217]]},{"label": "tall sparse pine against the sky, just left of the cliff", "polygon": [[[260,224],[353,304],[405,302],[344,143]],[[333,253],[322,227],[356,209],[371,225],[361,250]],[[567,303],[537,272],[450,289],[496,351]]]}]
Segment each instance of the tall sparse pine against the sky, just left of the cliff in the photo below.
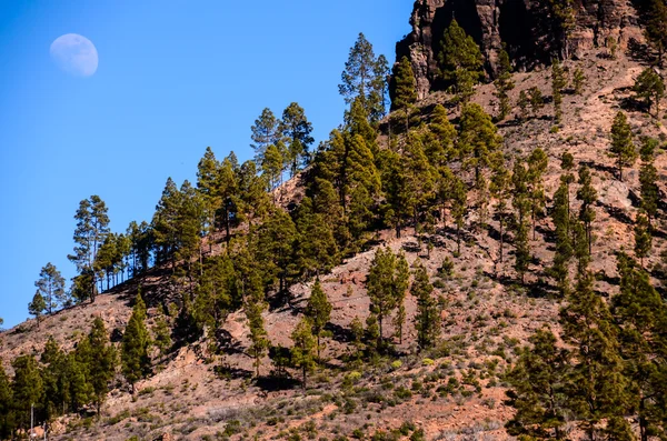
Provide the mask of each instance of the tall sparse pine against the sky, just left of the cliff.
[{"label": "tall sparse pine against the sky, just left of the cliff", "polygon": [[359,33],[355,46],[350,48],[338,91],[348,104],[358,98],[366,116],[375,123],[385,114],[387,73],[387,59],[381,56],[376,58],[372,44],[364,33]]}]

